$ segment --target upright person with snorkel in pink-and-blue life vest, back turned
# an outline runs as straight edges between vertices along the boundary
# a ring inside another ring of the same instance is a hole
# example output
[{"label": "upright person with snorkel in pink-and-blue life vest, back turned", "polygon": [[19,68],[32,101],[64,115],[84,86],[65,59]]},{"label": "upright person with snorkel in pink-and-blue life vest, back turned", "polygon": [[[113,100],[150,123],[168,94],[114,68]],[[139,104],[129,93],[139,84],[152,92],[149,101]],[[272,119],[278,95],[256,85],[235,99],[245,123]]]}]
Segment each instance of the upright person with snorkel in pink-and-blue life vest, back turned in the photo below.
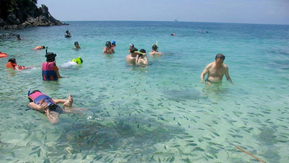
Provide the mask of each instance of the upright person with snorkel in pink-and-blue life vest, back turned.
[{"label": "upright person with snorkel in pink-and-blue life vest, back turned", "polygon": [[59,69],[55,63],[56,54],[54,53],[47,53],[46,47],[46,62],[42,62],[42,79],[43,80],[58,80],[59,78],[68,78],[62,77],[59,74]]}]

